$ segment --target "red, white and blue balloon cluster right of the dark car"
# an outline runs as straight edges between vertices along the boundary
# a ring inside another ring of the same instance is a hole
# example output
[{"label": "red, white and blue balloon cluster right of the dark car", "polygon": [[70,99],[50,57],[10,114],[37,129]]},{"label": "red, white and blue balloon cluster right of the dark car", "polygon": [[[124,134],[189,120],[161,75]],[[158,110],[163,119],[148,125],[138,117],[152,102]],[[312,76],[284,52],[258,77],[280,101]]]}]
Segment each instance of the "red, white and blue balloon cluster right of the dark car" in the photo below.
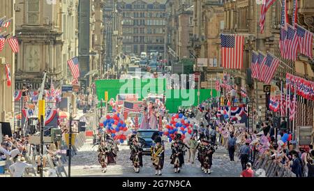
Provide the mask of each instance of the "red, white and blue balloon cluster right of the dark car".
[{"label": "red, white and blue balloon cluster right of the dark car", "polygon": [[193,125],[183,114],[172,115],[170,123],[163,129],[163,135],[169,138],[171,142],[177,134],[181,134],[181,140],[188,142],[193,132]]}]

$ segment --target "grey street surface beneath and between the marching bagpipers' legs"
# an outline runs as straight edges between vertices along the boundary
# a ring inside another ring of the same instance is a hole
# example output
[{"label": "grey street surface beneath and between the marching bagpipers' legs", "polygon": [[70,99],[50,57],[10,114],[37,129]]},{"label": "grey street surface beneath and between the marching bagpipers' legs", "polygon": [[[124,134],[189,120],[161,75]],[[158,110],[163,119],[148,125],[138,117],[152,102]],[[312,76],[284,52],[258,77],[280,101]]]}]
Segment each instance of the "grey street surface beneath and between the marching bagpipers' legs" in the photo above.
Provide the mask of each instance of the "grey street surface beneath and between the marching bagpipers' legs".
[{"label": "grey street surface beneath and between the marching bagpipers' legs", "polygon": [[[107,172],[101,171],[100,164],[98,163],[98,146],[94,146],[91,139],[87,139],[87,142],[82,146],[77,155],[73,156],[71,165],[71,176],[125,176],[125,177],[137,177],[137,176],[155,176],[155,170],[151,164],[151,157],[149,155],[143,156],[143,167],[140,169],[140,173],[137,174],[133,170],[132,162],[130,158],[130,149],[126,145],[119,145],[119,152],[117,156],[117,165],[110,165],[107,167]],[[180,173],[174,173],[172,169],[173,165],[170,165],[170,144],[166,144],[165,151],[165,165],[163,169],[163,175],[167,177],[177,176],[213,176],[213,177],[239,177],[241,174],[241,164],[239,160],[230,162],[225,149],[218,148],[218,151],[214,153],[213,166],[211,174],[204,174],[200,169],[200,162],[195,159],[195,163],[192,165],[187,162],[188,154],[186,153],[186,164],[181,169]],[[66,171],[68,167],[66,167]]]}]

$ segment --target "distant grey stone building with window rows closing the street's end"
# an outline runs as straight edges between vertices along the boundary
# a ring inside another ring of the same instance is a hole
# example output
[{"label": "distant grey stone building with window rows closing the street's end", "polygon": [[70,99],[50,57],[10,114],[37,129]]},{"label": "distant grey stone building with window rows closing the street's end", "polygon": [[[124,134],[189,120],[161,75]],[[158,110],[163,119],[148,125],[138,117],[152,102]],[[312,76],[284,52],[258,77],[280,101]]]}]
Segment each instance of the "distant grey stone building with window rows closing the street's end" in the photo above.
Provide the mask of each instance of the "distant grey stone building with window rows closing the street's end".
[{"label": "distant grey stone building with window rows closing the street's end", "polygon": [[121,0],[124,54],[165,51],[166,0]]}]

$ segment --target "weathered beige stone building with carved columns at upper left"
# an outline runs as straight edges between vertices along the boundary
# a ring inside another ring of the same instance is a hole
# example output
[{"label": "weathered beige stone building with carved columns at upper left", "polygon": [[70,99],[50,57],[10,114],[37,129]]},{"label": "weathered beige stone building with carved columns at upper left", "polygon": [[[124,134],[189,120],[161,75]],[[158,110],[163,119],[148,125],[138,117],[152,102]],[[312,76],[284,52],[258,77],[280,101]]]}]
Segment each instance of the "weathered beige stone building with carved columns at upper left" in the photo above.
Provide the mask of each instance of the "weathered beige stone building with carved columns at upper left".
[{"label": "weathered beige stone building with carved columns at upper left", "polygon": [[78,54],[78,0],[48,2],[16,1],[15,27],[21,33],[16,89],[21,89],[24,82],[38,89],[45,70],[54,80],[55,88],[71,81],[67,61]]}]

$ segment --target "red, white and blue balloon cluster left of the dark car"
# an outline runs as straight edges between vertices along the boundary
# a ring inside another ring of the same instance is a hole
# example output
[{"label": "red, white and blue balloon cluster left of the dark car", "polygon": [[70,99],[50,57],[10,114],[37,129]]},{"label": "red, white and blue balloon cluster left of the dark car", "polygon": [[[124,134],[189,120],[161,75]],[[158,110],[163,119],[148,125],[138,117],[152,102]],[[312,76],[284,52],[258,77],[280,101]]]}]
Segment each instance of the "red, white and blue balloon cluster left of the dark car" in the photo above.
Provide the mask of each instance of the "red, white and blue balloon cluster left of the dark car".
[{"label": "red, white and blue balloon cluster left of the dark car", "polygon": [[111,137],[114,140],[119,140],[119,142],[123,143],[126,140],[126,137],[132,133],[131,130],[128,130],[126,127],[126,123],[122,119],[120,119],[120,114],[113,114],[110,116],[109,114],[100,119],[100,127],[104,127],[107,133],[112,133]]}]

